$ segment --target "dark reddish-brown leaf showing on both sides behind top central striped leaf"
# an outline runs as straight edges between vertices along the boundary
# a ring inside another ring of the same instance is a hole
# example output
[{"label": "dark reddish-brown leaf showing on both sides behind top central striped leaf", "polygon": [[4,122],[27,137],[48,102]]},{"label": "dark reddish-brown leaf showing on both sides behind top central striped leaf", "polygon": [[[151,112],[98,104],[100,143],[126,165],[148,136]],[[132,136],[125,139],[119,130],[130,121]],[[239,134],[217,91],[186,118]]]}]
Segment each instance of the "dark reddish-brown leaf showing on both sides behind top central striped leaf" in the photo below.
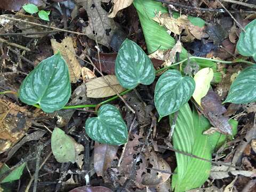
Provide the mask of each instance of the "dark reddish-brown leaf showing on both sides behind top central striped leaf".
[{"label": "dark reddish-brown leaf showing on both sides behind top central striped leaf", "polygon": [[[98,69],[101,69],[103,73],[108,75],[115,75],[115,61],[117,53],[100,53],[100,62],[98,54],[92,55],[92,61]],[[151,61],[155,69],[159,68],[164,61],[152,58]]]}]

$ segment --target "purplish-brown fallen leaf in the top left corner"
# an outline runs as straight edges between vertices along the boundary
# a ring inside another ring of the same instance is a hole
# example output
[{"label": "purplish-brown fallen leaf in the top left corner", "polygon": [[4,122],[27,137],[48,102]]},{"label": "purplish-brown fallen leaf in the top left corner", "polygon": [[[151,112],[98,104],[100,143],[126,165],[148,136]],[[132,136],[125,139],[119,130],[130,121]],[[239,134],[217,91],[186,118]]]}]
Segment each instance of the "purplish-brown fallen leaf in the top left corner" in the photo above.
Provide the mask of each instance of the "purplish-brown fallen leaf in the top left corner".
[{"label": "purplish-brown fallen leaf in the top left corner", "polygon": [[35,4],[36,6],[43,5],[42,0],[1,0],[0,9],[7,11],[20,11],[24,4]]}]

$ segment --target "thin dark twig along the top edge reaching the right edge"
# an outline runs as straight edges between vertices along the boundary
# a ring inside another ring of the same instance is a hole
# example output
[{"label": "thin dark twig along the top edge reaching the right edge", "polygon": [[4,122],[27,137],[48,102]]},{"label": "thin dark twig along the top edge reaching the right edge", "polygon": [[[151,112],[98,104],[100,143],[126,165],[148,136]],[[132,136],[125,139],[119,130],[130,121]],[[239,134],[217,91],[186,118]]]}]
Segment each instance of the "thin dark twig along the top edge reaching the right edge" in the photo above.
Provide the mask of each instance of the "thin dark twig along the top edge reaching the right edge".
[{"label": "thin dark twig along the top edge reaching the right edge", "polygon": [[[188,6],[188,5],[182,5],[180,3],[167,2],[166,0],[155,0],[155,1],[161,2],[161,3],[166,3],[166,4],[169,4],[169,5],[183,7],[183,8],[188,9],[188,10],[198,10],[198,11],[218,12],[218,13],[227,12],[226,10],[223,10],[223,9],[210,9],[210,8],[201,8],[201,7],[196,7],[196,6]],[[229,12],[230,13],[255,13],[255,11],[238,11],[238,10],[229,11]]]}]

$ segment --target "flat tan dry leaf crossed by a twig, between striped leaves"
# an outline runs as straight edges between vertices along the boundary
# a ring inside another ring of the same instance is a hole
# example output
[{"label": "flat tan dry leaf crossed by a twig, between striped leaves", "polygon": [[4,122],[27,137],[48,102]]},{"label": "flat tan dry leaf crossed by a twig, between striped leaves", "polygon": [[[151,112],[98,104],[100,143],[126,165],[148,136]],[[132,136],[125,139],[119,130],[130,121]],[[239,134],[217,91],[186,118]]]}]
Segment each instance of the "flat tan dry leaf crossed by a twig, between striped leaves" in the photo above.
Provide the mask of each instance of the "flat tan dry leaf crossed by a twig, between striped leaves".
[{"label": "flat tan dry leaf crossed by a twig, between striped leaves", "polygon": [[125,90],[124,87],[119,84],[115,75],[106,75],[104,77],[98,77],[88,83],[85,83],[86,96],[89,98],[105,98],[115,95],[116,92],[111,89],[105,79],[108,80],[110,85],[114,87],[118,93],[121,93]]}]

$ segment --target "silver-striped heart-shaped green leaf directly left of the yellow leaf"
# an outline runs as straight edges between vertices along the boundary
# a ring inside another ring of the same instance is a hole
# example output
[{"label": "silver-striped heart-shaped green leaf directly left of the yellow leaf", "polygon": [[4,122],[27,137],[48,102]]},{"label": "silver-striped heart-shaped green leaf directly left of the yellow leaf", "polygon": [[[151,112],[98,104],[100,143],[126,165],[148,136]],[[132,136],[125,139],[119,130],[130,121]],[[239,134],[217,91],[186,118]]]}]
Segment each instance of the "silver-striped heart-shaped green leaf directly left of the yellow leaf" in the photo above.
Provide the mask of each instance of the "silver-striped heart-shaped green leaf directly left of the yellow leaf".
[{"label": "silver-striped heart-shaped green leaf directly left of the yellow leaf", "polygon": [[179,110],[195,90],[191,77],[182,77],[176,69],[167,70],[158,79],[155,87],[155,106],[160,117]]}]

